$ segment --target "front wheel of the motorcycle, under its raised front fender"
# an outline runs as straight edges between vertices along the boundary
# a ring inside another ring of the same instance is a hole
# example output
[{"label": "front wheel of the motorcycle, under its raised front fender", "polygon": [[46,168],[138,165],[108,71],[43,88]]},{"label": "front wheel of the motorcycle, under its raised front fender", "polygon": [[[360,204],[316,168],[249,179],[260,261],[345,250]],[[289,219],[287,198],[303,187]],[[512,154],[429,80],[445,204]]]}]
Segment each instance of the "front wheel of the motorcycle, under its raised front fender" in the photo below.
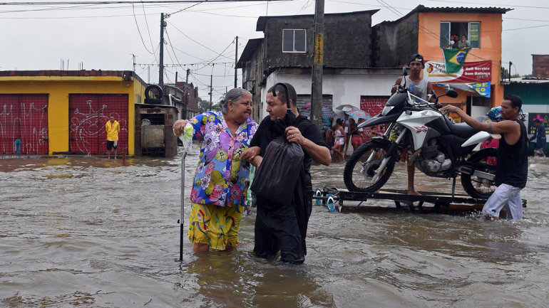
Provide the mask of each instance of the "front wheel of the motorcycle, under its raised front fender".
[{"label": "front wheel of the motorcycle, under its raised front fender", "polygon": [[395,157],[389,158],[376,181],[374,181],[374,176],[387,151],[389,151],[389,144],[380,142],[366,142],[356,149],[349,157],[343,172],[343,180],[347,189],[371,193],[384,186],[393,173]]}]

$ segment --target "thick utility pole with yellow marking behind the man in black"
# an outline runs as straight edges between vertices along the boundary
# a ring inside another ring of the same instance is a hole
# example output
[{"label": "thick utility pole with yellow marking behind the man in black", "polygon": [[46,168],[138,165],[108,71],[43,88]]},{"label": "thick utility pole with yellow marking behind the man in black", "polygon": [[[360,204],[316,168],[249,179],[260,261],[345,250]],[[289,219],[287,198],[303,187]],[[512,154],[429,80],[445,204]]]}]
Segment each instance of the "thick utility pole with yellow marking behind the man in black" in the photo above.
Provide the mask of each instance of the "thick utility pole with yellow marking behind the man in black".
[{"label": "thick utility pole with yellow marking behind the man in black", "polygon": [[311,122],[322,127],[322,67],[324,65],[324,0],[314,4],[314,58],[312,63]]}]

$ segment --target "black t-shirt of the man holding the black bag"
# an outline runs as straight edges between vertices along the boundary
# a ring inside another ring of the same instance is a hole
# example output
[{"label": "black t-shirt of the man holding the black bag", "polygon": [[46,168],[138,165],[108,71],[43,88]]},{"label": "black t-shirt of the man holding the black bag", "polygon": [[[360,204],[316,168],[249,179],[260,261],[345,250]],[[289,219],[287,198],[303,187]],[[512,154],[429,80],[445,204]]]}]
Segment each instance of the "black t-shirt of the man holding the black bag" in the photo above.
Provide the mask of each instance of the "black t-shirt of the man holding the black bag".
[{"label": "black t-shirt of the man holding the black bag", "polygon": [[[311,140],[314,144],[318,144],[322,147],[328,147],[326,142],[324,142],[324,138],[322,138],[317,126],[309,121],[307,117],[302,115],[297,116],[294,122],[294,127],[297,127],[303,137]],[[267,146],[270,144],[272,139],[275,139],[282,134],[284,134],[284,131],[275,122],[272,122],[269,116],[267,116],[261,121],[260,127],[257,127],[257,132],[255,132],[254,137],[252,138],[250,147],[260,147],[260,156],[265,156]],[[312,158],[306,151],[303,151],[303,154],[303,166],[305,168],[306,176],[305,186],[307,191],[312,191],[311,174],[309,173]]]}]

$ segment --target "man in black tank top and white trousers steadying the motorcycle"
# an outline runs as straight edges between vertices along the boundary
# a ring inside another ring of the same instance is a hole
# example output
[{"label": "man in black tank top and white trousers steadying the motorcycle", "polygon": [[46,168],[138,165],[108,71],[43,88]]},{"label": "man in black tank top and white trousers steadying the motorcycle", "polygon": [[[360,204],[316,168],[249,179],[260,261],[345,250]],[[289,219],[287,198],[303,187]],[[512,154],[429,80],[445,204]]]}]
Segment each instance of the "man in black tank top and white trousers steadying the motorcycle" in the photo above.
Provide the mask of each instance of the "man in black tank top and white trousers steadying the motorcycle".
[{"label": "man in black tank top and white trousers steadying the motorcycle", "polygon": [[487,219],[498,219],[502,208],[506,208],[507,218],[523,217],[520,190],[526,186],[528,178],[528,136],[526,127],[518,114],[523,101],[518,95],[510,95],[501,102],[501,122],[478,122],[458,107],[446,105],[441,111],[456,112],[469,126],[501,134],[496,164],[496,186],[498,188],[488,198],[482,209]]}]

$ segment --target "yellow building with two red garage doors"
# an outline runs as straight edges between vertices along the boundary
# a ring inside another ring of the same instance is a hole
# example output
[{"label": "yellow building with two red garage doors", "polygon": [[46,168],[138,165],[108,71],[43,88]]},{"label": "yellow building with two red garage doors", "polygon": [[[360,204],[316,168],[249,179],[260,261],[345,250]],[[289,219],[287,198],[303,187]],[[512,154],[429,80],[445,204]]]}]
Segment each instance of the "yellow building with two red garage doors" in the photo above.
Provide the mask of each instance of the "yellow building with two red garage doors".
[{"label": "yellow building with two red garage doors", "polygon": [[133,155],[145,87],[132,71],[0,71],[0,154],[105,154],[113,115],[118,152]]}]

